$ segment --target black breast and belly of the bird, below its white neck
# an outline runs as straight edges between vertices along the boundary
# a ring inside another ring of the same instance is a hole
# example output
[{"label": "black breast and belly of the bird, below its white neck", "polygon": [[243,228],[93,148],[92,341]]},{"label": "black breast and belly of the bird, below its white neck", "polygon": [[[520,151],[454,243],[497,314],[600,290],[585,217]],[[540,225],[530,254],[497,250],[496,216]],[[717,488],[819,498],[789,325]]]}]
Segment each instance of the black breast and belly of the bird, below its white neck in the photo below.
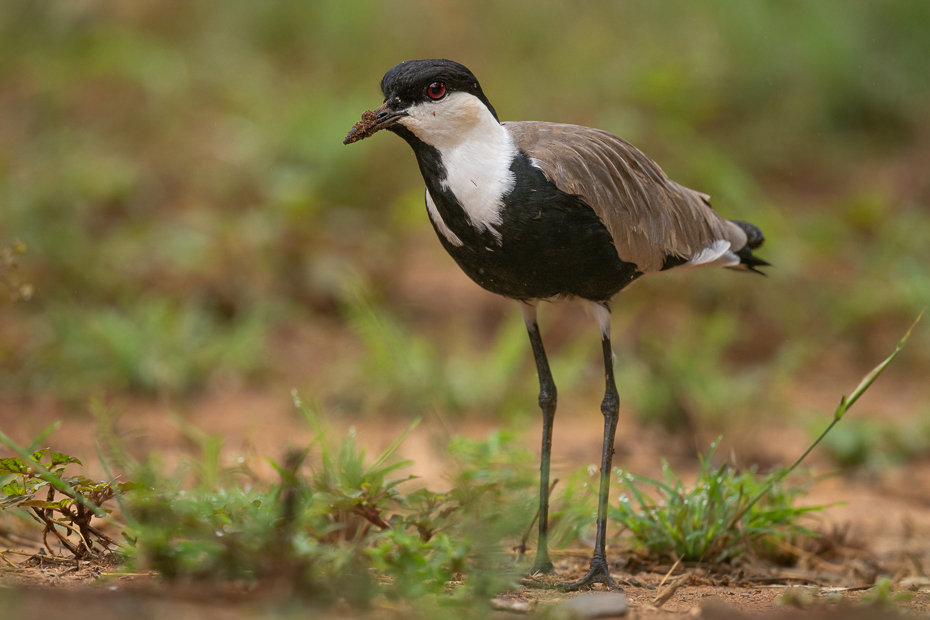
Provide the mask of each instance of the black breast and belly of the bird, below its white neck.
[{"label": "black breast and belly of the bird, below its white neck", "polygon": [[602,301],[639,275],[619,259],[594,211],[559,191],[525,156],[511,161],[512,185],[495,190],[487,211],[494,219],[485,227],[474,224],[468,194],[456,193],[449,172],[446,182],[430,186],[427,179],[427,210],[443,246],[482,287],[516,299]]}]

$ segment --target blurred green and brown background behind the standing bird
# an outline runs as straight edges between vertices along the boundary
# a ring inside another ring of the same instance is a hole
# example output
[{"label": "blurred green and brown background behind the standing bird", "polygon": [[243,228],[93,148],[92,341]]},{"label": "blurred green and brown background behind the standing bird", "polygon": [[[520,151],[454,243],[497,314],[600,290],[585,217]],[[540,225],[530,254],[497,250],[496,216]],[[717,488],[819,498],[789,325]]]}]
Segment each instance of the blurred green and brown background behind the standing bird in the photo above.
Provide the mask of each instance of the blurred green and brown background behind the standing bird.
[{"label": "blurred green and brown background behind the standing bird", "polygon": [[[768,278],[616,299],[626,411],[803,415],[930,305],[928,32],[924,0],[4,0],[0,245],[34,293],[0,301],[0,399],[296,385],[337,413],[535,420],[518,313],[442,253],[409,148],[341,142],[387,69],[444,57],[501,118],[611,131],[765,231]],[[598,398],[591,320],[541,320],[560,396]],[[889,380],[917,414],[928,344]]]}]

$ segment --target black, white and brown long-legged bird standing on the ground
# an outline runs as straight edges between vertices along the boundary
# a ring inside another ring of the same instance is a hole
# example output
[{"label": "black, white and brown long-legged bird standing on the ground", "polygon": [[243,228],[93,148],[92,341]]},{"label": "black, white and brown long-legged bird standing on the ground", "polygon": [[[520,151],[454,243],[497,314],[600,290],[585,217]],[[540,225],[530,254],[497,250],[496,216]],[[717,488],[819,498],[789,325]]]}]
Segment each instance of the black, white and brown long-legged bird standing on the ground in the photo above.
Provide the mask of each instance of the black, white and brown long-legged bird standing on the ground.
[{"label": "black, white and brown long-legged bird standing on the ground", "polygon": [[344,143],[386,129],[407,142],[426,184],[439,241],[480,287],[517,302],[539,378],[542,448],[539,534],[530,572],[549,573],[549,470],[558,400],[537,307],[577,299],[597,321],[604,357],[596,537],[590,569],[567,590],[617,588],[606,558],[607,506],[620,400],[610,343],[610,302],[644,275],[727,267],[762,273],[764,236],[726,220],[707,194],[670,180],[649,157],[599,129],[501,122],[474,74],[444,59],[397,64],[383,103],[366,110]]}]

